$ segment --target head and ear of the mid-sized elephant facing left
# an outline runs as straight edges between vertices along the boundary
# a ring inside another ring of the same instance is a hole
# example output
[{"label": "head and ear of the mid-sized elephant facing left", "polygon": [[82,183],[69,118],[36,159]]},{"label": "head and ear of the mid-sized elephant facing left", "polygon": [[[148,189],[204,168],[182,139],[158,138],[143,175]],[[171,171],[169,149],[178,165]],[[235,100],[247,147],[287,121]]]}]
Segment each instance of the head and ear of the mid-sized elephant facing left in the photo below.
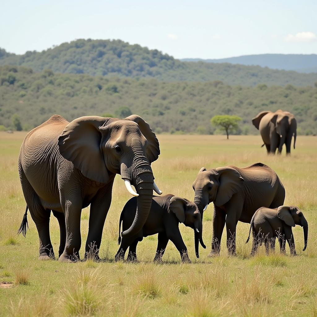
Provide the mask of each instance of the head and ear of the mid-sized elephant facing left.
[{"label": "head and ear of the mid-sized elephant facing left", "polygon": [[194,203],[197,204],[202,218],[208,204],[213,202],[218,207],[224,205],[241,189],[243,181],[240,173],[232,167],[210,170],[202,167],[193,183]]}]

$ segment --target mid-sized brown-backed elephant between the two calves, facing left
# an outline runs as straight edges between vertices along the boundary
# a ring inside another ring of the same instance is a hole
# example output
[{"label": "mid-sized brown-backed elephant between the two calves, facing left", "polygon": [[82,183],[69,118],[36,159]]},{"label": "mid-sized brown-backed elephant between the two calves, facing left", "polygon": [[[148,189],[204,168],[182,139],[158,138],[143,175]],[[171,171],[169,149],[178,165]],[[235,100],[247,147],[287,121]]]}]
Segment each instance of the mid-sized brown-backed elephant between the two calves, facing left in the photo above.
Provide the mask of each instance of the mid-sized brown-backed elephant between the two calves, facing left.
[{"label": "mid-sized brown-backed elephant between the two calves, facing left", "polygon": [[202,218],[208,204],[214,204],[209,256],[219,254],[225,224],[228,252],[235,255],[238,221],[250,223],[258,208],[276,208],[284,204],[285,199],[285,189],[280,179],[275,171],[263,163],[243,168],[230,165],[206,170],[202,167],[193,189],[194,203]]}]

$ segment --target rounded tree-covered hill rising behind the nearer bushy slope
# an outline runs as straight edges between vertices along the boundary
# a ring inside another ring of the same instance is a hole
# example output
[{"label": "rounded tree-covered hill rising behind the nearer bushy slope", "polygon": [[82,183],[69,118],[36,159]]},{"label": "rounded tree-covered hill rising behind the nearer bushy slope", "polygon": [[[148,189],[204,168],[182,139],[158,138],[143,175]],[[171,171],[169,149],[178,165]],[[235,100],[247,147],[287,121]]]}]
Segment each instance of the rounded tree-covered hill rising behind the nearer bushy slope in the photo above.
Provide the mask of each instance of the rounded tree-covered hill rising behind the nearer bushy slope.
[{"label": "rounded tree-covered hill rising behind the nearer bushy slope", "polygon": [[273,70],[229,63],[181,62],[158,50],[120,40],[76,40],[42,52],[24,55],[0,49],[0,65],[22,65],[39,72],[52,69],[70,74],[153,77],[159,81],[215,81],[230,85],[292,84],[313,86],[317,74]]}]

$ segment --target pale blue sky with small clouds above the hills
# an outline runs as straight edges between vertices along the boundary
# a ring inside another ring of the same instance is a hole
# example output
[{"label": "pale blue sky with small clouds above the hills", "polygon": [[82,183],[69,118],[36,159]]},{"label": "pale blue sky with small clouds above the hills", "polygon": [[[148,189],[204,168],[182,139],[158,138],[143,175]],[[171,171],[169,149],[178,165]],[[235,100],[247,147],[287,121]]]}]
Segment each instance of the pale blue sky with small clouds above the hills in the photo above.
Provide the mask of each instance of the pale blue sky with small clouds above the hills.
[{"label": "pale blue sky with small clouds above the hills", "polygon": [[5,1],[0,47],[121,39],[176,58],[317,53],[317,1]]}]

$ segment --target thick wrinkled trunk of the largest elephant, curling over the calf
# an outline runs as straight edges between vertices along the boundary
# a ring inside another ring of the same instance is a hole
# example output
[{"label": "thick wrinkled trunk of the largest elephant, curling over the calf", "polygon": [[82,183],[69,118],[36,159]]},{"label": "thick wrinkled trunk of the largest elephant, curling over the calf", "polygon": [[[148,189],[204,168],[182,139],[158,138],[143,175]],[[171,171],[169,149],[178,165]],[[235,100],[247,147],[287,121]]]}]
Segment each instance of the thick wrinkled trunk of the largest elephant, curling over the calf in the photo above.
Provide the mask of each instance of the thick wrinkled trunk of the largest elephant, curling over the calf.
[{"label": "thick wrinkled trunk of the largest elephant, curling over the calf", "polygon": [[132,237],[142,229],[152,204],[154,177],[146,157],[136,157],[131,169],[127,169],[126,165],[122,164],[121,178],[131,180],[138,194],[137,211],[133,223],[129,229],[122,232],[122,236]]}]

